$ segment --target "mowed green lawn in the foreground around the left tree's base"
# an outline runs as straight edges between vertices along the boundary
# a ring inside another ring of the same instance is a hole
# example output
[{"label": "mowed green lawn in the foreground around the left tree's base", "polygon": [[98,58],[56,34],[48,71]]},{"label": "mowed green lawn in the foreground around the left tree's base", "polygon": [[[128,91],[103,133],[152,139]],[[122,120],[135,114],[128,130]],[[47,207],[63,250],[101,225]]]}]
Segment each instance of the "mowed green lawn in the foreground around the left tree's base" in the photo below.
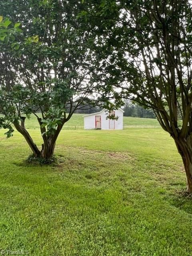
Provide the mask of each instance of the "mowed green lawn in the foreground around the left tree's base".
[{"label": "mowed green lawn in the foreground around the left tree's base", "polygon": [[[29,132],[40,146],[39,130]],[[182,161],[162,129],[62,130],[55,153],[57,166],[26,166],[22,136],[7,140],[0,130],[0,249],[191,255],[192,198],[182,193]]]}]

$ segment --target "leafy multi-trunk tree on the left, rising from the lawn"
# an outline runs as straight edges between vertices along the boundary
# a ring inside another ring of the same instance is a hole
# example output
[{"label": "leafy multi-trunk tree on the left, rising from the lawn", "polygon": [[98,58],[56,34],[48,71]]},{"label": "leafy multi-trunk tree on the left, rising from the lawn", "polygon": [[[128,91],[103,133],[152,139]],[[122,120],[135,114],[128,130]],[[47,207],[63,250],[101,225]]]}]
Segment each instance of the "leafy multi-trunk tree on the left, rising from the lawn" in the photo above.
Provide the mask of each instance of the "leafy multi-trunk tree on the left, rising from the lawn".
[{"label": "leafy multi-trunk tree on the left, rising from the lawn", "polygon": [[[34,157],[51,158],[74,111],[96,105],[88,49],[91,33],[80,29],[76,18],[81,6],[60,0],[0,3],[1,15],[9,18],[7,25],[16,26],[19,33],[0,43],[0,112],[4,114],[0,124],[8,128],[8,137],[14,126]],[[24,125],[31,114],[40,125],[41,149]]]}]

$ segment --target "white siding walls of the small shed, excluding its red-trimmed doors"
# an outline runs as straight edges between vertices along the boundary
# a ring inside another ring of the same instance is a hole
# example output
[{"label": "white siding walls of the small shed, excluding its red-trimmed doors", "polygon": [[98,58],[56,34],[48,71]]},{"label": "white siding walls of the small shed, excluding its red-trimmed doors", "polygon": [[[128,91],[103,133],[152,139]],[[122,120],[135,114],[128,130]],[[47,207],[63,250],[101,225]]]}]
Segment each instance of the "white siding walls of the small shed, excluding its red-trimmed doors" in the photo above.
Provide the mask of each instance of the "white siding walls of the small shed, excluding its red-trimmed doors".
[{"label": "white siding walls of the small shed, excluding its red-trimmed doors", "polygon": [[[109,130],[109,119],[106,119],[106,112],[102,110],[100,113],[94,113],[92,115],[84,116],[84,129],[95,129],[95,116],[101,116],[101,128],[102,130]],[[118,116],[118,120],[115,120],[115,130],[123,129],[123,112],[118,109],[115,110],[115,116]]]}]

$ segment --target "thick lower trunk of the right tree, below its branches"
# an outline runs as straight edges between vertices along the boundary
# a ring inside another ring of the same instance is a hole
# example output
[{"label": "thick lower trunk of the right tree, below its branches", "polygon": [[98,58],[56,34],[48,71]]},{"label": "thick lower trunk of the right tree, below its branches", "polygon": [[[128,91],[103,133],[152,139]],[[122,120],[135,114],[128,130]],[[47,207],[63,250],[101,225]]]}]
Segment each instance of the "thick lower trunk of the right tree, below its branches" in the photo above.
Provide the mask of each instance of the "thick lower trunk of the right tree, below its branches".
[{"label": "thick lower trunk of the right tree, below its branches", "polygon": [[192,138],[175,139],[178,152],[182,157],[187,181],[187,190],[192,193]]}]

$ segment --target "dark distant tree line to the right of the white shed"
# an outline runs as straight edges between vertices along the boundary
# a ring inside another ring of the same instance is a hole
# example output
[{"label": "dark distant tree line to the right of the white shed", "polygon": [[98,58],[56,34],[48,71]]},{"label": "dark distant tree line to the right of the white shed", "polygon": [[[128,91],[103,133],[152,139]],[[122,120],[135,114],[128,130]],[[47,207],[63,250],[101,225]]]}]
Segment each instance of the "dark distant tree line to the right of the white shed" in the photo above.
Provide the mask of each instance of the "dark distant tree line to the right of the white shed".
[{"label": "dark distant tree line to the right of the white shed", "polygon": [[124,116],[156,118],[152,110],[145,109],[144,107],[133,103],[131,100],[126,100],[123,110]]}]

